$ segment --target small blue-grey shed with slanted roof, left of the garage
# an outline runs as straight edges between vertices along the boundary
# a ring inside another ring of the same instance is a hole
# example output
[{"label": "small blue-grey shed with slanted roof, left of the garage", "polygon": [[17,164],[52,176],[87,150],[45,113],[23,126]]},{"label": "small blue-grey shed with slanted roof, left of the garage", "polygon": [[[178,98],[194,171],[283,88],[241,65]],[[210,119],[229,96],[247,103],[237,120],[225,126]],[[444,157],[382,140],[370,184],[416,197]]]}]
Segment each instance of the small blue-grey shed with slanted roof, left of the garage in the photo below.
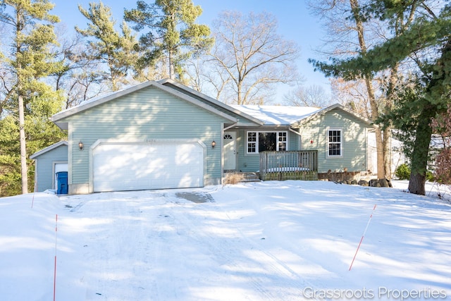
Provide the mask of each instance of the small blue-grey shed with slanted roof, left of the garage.
[{"label": "small blue-grey shed with slanted roof, left of the garage", "polygon": [[58,176],[61,180],[62,173],[68,172],[68,142],[50,145],[30,159],[35,160],[35,191],[58,190]]}]

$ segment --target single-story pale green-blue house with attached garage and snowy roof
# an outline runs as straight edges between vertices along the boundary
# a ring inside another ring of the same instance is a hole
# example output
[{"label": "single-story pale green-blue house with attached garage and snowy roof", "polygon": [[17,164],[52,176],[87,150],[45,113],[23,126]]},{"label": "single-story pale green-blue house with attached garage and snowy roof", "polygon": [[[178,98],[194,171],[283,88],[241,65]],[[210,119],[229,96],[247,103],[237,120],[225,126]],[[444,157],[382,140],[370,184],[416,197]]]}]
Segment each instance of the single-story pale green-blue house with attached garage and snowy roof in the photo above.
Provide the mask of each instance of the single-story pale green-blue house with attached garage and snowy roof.
[{"label": "single-story pale green-blue house with attached garage and snowy roof", "polygon": [[92,99],[51,120],[68,130],[70,194],[216,185],[225,171],[258,171],[264,150],[316,150],[319,172],[365,171],[372,127],[339,104],[229,106],[173,80]]}]

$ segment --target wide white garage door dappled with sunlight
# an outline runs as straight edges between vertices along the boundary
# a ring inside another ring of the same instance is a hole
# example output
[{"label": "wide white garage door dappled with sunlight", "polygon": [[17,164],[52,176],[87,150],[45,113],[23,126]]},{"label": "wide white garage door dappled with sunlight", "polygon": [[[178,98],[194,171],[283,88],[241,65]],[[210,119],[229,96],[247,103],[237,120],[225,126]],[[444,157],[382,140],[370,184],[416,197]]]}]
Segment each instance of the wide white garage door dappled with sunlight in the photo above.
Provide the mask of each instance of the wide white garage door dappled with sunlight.
[{"label": "wide white garage door dappled with sunlight", "polygon": [[94,192],[202,187],[204,152],[197,142],[102,143],[92,171]]}]

